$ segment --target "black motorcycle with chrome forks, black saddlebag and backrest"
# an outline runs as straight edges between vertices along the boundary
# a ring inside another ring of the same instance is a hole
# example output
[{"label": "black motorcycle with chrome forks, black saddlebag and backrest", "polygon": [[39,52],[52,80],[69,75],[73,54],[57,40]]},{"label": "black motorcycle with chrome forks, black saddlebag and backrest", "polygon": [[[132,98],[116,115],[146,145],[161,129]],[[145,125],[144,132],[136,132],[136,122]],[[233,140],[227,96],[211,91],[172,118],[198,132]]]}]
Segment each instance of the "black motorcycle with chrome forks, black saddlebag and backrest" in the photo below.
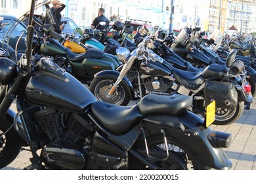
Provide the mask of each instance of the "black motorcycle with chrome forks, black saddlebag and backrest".
[{"label": "black motorcycle with chrome forks, black saddlebag and backrest", "polygon": [[242,115],[245,103],[252,102],[250,87],[245,84],[245,76],[240,75],[243,64],[233,63],[235,50],[228,56],[226,65],[209,65],[203,71],[184,71],[174,68],[148,48],[154,39],[154,36],[144,38],[120,72],[101,71],[95,75],[90,90],[99,101],[127,105],[135,92],[140,97],[148,93],[179,93],[192,96],[191,110],[205,116],[205,107],[214,98],[217,107],[214,123],[219,125],[236,121]]}]

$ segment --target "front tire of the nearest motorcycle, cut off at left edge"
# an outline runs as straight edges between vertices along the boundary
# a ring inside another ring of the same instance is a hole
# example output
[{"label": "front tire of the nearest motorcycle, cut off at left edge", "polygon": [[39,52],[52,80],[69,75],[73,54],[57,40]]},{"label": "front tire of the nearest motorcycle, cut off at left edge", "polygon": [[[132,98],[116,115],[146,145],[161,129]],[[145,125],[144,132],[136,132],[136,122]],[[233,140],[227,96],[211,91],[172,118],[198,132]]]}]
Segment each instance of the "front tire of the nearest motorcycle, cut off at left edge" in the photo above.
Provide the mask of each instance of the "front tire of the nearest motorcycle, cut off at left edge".
[{"label": "front tire of the nearest motorcycle, cut off at left edge", "polygon": [[[5,133],[5,135],[3,135]],[[3,136],[2,136],[3,135]],[[20,153],[21,146],[15,143],[14,129],[0,123],[0,169],[9,165]]]}]

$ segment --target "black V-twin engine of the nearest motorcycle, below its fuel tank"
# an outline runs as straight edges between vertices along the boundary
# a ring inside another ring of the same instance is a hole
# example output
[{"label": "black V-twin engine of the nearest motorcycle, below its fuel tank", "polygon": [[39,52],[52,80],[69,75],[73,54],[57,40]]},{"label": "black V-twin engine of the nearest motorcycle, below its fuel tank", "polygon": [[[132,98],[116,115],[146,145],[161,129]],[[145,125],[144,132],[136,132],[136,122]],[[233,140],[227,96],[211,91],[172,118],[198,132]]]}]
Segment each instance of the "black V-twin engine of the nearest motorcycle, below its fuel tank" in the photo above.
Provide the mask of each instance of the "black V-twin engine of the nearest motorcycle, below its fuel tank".
[{"label": "black V-twin engine of the nearest motorcycle, below its fuel tank", "polygon": [[85,116],[44,108],[34,114],[48,141],[41,158],[48,169],[83,169],[91,150],[93,127]]}]

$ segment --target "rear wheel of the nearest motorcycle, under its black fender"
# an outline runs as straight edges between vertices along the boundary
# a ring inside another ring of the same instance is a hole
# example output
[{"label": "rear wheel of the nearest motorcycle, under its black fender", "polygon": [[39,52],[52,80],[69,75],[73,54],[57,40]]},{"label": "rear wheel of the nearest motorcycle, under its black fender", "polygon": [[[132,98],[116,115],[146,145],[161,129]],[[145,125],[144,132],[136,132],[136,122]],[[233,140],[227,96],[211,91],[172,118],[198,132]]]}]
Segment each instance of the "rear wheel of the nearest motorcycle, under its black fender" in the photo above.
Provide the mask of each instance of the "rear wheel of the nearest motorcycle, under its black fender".
[{"label": "rear wheel of the nearest motorcycle, under its black fender", "polygon": [[[190,144],[185,144],[184,142],[179,141],[177,137],[167,135],[167,144],[169,147],[169,158],[165,161],[157,160],[154,161],[154,164],[165,170],[204,170],[210,169],[204,165],[200,158],[196,156],[190,150]],[[148,150],[160,150],[165,152],[165,142],[163,135],[152,135],[146,138],[148,144]],[[138,141],[135,143],[133,148],[142,149],[145,148],[144,140]],[[149,169],[144,163],[138,161],[138,159],[133,156],[129,156],[129,169]]]}]

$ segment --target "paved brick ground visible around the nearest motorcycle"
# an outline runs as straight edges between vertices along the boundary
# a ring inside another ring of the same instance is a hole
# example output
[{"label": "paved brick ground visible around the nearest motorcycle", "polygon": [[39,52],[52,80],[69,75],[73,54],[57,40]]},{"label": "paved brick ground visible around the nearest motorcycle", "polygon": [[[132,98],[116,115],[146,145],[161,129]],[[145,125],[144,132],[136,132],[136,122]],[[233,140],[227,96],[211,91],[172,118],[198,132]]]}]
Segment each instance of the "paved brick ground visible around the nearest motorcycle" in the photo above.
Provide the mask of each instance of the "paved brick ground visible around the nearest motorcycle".
[{"label": "paved brick ground visible around the nearest motorcycle", "polygon": [[[13,108],[15,105],[12,106]],[[239,120],[230,125],[211,125],[218,131],[232,133],[232,144],[226,149],[234,170],[256,170],[256,99],[250,110],[244,110]],[[23,150],[5,170],[23,169],[30,165],[31,153]]]}]

